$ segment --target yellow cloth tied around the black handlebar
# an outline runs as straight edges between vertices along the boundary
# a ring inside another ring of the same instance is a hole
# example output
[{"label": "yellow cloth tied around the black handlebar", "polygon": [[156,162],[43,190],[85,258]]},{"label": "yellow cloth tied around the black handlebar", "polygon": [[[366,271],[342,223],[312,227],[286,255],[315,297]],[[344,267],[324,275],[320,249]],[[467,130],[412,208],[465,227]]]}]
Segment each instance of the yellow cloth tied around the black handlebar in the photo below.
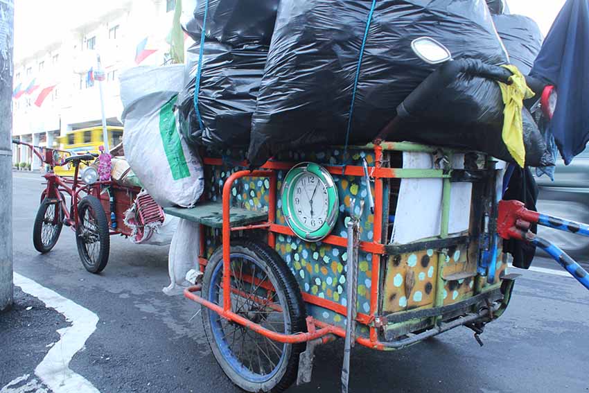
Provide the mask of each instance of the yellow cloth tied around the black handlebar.
[{"label": "yellow cloth tied around the black handlebar", "polygon": [[525,76],[522,75],[518,67],[514,65],[504,65],[513,73],[509,78],[511,85],[499,82],[501,93],[503,94],[503,103],[505,104],[504,121],[503,121],[503,143],[507,146],[509,154],[516,160],[522,168],[525,166],[525,146],[524,130],[522,123],[523,101],[534,96],[526,85]]}]

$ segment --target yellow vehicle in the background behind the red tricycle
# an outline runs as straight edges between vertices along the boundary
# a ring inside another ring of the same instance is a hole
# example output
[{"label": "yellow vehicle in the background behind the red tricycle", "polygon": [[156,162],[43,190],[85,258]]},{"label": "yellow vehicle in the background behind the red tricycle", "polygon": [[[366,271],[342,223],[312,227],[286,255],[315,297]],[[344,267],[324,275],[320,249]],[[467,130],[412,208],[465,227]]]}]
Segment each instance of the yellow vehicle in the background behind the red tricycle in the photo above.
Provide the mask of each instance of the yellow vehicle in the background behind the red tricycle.
[{"label": "yellow vehicle in the background behind the red tricycle", "polygon": [[[121,143],[123,128],[108,126],[109,146],[112,148]],[[103,146],[103,128],[91,127],[73,130],[58,138],[61,150],[67,150],[72,154],[83,154],[85,152],[98,153],[98,147]],[[80,163],[80,169],[85,165]],[[73,176],[73,165],[55,166],[55,174],[60,176]]]}]

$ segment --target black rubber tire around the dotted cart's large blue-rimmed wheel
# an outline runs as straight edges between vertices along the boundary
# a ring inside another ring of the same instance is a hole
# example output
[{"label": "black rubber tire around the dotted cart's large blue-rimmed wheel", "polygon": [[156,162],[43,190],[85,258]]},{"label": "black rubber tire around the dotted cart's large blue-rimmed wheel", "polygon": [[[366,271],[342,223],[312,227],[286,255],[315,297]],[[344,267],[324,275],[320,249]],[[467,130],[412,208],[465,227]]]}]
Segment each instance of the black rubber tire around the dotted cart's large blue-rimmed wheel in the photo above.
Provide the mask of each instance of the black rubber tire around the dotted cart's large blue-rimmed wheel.
[{"label": "black rubber tire around the dotted cart's large blue-rimmed wheel", "polygon": [[[274,276],[278,286],[282,288],[276,288],[276,290],[282,290],[285,295],[286,304],[290,314],[291,332],[306,332],[306,311],[299,288],[299,283],[294,278],[294,275],[282,260],[279,254],[272,250],[265,243],[259,243],[258,241],[231,241],[231,252],[240,252],[252,256],[261,265],[265,265],[267,272]],[[209,286],[211,278],[216,266],[222,262],[222,246],[213,253],[209,262],[206,264],[204,271],[204,278],[202,280],[202,297],[204,299],[209,298]],[[247,381],[243,376],[240,376],[231,365],[227,363],[227,360],[222,356],[219,347],[217,346],[216,340],[213,336],[211,329],[210,315],[214,311],[209,308],[202,307],[202,324],[204,325],[204,333],[206,339],[209,341],[211,351],[217,359],[223,372],[231,379],[231,381],[240,387],[240,389],[246,392],[272,392],[279,393],[288,389],[295,381],[297,381],[297,373],[299,371],[299,355],[305,350],[306,344],[290,344],[287,346],[287,356],[282,365],[281,369],[276,373],[269,381],[263,383],[254,383]],[[288,353],[290,351],[290,353]]]}]

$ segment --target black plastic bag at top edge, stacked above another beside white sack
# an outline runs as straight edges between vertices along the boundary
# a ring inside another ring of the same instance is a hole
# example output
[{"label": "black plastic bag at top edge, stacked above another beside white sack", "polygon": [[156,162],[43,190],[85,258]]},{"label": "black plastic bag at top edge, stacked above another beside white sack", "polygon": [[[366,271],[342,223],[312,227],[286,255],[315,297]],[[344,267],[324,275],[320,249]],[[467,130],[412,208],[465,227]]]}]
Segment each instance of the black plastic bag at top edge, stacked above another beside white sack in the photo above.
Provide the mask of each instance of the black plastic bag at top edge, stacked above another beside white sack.
[{"label": "black plastic bag at top edge, stacked above another beside white sack", "polygon": [[187,33],[200,42],[204,10],[206,37],[223,44],[270,45],[279,0],[198,0]]}]

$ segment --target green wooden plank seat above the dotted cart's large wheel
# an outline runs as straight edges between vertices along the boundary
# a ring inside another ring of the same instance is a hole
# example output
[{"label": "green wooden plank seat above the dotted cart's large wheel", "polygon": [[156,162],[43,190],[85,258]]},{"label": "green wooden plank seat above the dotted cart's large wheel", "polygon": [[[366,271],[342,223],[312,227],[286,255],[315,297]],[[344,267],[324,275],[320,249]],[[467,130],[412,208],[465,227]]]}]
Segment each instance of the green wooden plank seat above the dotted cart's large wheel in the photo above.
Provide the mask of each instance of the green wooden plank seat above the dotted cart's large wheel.
[{"label": "green wooden plank seat above the dotted cart's large wheel", "polygon": [[[170,216],[184,218],[185,220],[198,222],[207,227],[222,228],[223,227],[223,208],[220,202],[204,202],[197,204],[191,209],[184,207],[166,207],[164,212]],[[229,222],[231,227],[238,227],[249,225],[254,222],[261,222],[268,220],[268,213],[266,211],[250,211],[240,207],[231,207],[231,214]]]}]

